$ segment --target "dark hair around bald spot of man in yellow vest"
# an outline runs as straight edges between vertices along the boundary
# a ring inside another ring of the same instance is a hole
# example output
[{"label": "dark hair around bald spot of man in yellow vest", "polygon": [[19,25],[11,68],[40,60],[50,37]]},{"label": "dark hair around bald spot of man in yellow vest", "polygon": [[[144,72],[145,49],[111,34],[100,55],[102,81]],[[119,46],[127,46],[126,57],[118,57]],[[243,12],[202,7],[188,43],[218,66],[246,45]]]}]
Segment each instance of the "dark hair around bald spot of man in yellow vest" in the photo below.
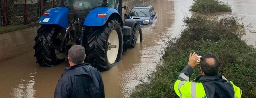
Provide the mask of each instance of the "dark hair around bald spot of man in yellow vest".
[{"label": "dark hair around bald spot of man in yellow vest", "polygon": [[[209,64],[209,62],[206,61],[208,58],[213,58],[214,64]],[[207,76],[215,76],[219,73],[219,58],[217,58],[212,53],[205,53],[200,58],[200,67],[204,71],[204,74]]]}]

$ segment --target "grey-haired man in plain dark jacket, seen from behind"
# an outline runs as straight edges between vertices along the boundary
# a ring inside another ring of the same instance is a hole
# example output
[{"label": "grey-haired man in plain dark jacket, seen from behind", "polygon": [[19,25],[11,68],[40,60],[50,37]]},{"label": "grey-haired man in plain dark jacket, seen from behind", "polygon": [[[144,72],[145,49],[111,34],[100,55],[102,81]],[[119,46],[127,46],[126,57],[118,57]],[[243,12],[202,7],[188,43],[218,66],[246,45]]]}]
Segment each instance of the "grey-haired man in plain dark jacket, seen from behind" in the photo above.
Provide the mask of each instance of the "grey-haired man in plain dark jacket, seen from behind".
[{"label": "grey-haired man in plain dark jacket, seen from behind", "polygon": [[54,98],[104,98],[104,85],[100,72],[84,63],[85,49],[73,45],[69,49],[69,65],[56,86]]}]

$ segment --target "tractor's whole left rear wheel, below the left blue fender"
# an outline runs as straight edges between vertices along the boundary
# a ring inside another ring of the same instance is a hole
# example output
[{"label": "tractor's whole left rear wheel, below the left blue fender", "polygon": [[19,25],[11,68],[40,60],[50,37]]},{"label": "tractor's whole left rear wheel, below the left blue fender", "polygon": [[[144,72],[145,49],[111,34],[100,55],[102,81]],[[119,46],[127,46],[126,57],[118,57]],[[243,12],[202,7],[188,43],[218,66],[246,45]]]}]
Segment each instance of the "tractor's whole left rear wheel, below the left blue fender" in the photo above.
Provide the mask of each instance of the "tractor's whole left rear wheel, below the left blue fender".
[{"label": "tractor's whole left rear wheel, below the left blue fender", "polygon": [[66,54],[51,47],[52,45],[61,45],[59,32],[63,30],[65,29],[58,25],[42,25],[37,30],[33,48],[35,49],[34,56],[40,66],[53,67],[64,60]]}]

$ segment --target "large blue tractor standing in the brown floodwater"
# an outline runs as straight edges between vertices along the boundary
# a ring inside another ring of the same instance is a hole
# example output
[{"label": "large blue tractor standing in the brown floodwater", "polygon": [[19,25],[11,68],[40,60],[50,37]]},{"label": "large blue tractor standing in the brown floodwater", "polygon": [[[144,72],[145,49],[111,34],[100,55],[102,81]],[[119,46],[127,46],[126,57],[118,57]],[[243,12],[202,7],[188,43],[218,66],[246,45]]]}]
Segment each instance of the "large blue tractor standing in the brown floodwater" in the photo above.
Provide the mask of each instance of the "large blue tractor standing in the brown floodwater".
[{"label": "large blue tractor standing in the brown floodwater", "polygon": [[[117,3],[119,2],[119,3]],[[62,0],[40,17],[35,37],[35,57],[41,66],[67,60],[72,45],[85,47],[85,62],[106,71],[122,52],[142,42],[141,24],[122,21],[122,0]]]}]

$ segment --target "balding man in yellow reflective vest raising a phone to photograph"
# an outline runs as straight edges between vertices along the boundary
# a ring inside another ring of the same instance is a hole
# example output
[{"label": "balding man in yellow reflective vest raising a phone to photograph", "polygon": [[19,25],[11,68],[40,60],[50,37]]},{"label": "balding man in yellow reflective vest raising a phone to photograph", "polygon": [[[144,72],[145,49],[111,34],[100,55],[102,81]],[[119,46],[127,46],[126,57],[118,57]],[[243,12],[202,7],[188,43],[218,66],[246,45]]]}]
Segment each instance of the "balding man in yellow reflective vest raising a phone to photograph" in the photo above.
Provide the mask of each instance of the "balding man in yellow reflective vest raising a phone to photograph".
[{"label": "balding man in yellow reflective vest raising a phone to photograph", "polygon": [[[200,63],[197,56],[189,54],[189,62],[174,84],[174,91],[180,98],[241,98],[241,89],[219,74],[219,59],[214,54],[203,54]],[[189,81],[198,64],[202,75]]]}]

